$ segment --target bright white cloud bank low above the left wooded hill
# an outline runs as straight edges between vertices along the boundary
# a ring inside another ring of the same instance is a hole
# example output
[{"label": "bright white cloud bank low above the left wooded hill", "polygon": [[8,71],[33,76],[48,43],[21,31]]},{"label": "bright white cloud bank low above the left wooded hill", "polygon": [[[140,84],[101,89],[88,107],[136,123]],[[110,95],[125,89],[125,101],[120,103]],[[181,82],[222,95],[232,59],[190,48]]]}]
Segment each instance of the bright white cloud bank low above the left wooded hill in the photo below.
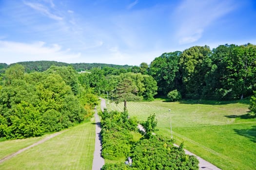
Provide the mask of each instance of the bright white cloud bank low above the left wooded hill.
[{"label": "bright white cloud bank low above the left wooded hill", "polygon": [[51,60],[72,63],[81,56],[81,53],[71,53],[70,49],[62,50],[58,44],[46,46],[45,42],[20,43],[0,41],[1,60],[4,63],[19,61]]}]

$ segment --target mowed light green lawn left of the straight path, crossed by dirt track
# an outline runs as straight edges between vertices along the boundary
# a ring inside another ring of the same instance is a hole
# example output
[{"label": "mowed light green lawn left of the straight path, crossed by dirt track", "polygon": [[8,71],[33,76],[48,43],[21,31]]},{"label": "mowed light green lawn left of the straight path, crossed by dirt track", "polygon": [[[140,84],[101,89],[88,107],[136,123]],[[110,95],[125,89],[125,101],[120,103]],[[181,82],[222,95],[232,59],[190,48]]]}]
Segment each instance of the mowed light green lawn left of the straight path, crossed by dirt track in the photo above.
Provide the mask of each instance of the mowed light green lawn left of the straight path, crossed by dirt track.
[{"label": "mowed light green lawn left of the straight path, crossed by dirt track", "polygon": [[[92,170],[95,124],[85,122],[0,164],[0,170]],[[0,142],[0,158],[47,137]]]}]

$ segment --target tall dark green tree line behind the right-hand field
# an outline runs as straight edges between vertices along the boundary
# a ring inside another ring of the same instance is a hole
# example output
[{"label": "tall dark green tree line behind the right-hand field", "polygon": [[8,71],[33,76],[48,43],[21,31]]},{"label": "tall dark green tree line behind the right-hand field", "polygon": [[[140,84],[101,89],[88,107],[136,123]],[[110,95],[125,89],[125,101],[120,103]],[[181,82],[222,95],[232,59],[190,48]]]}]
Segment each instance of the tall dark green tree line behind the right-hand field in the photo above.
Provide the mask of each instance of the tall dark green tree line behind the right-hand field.
[{"label": "tall dark green tree line behind the right-hand field", "polygon": [[160,95],[177,89],[186,99],[243,99],[256,90],[256,46],[195,46],[163,53],[148,74],[158,82]]}]

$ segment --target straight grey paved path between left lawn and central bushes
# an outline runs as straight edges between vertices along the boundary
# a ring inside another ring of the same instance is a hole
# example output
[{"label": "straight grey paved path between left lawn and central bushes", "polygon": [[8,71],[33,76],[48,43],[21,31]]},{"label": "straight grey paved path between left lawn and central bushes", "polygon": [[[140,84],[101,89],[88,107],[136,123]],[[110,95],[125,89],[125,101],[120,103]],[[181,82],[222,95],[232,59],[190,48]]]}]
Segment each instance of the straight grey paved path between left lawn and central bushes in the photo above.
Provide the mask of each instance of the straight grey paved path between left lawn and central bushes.
[{"label": "straight grey paved path between left lawn and central bushes", "polygon": [[[102,102],[104,102],[102,104]],[[105,100],[101,99],[100,102],[100,107],[101,109],[104,110],[106,108],[106,102]],[[101,124],[100,124],[100,119],[98,117],[98,112],[97,109],[94,109],[94,117],[95,117],[95,123],[96,123],[96,136],[95,136],[95,149],[94,149],[94,156],[93,156],[93,170],[100,170],[102,166],[105,164],[104,159],[101,157],[101,136],[100,136],[100,131],[101,131]]]}]

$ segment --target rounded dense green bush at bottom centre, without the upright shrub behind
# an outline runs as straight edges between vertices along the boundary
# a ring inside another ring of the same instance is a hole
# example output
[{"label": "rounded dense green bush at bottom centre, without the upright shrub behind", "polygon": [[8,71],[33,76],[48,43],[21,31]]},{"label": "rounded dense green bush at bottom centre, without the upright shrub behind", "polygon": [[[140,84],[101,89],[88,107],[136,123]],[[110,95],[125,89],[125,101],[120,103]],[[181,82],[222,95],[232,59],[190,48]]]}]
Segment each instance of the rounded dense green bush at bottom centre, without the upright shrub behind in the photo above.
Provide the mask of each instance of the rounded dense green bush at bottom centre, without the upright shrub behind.
[{"label": "rounded dense green bush at bottom centre, without the upright shrub behind", "polygon": [[186,155],[172,140],[151,136],[136,143],[131,152],[133,168],[138,170],[198,170],[195,156]]}]

